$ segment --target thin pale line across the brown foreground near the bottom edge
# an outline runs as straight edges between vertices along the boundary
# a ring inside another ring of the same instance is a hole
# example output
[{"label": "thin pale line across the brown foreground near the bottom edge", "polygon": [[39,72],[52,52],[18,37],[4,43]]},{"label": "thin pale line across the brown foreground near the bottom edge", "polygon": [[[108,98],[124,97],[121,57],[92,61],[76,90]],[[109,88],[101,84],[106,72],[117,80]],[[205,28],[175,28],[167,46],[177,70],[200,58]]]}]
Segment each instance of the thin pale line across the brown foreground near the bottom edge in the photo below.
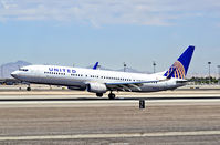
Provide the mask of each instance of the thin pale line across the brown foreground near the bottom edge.
[{"label": "thin pale line across the brown foreground near the bottom edge", "polygon": [[6,137],[0,137],[0,141],[169,137],[169,136],[197,136],[197,135],[220,135],[220,131],[124,133],[124,134],[119,134],[119,133],[118,134],[76,134],[76,135],[45,135],[45,136],[6,136]]}]

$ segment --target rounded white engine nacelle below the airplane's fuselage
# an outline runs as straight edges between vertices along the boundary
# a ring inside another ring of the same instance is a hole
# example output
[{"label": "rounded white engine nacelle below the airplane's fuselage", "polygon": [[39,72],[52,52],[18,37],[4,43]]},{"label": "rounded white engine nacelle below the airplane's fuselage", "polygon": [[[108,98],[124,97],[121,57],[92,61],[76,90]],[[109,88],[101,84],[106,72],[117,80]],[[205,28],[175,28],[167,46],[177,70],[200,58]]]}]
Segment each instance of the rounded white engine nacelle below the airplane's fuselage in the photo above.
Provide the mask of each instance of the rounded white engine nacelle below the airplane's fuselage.
[{"label": "rounded white engine nacelle below the airplane's fuselage", "polygon": [[106,93],[107,87],[103,83],[88,83],[87,91],[93,93]]}]

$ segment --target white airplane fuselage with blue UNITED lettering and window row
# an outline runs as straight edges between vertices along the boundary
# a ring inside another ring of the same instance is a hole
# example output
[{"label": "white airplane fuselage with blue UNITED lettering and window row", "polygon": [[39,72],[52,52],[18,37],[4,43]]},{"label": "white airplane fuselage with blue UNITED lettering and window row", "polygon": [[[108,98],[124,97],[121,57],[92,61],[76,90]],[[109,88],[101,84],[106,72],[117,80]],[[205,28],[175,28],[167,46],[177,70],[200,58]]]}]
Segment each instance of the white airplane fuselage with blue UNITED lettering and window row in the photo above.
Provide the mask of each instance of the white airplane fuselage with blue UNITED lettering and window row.
[{"label": "white airplane fuselage with blue UNITED lettering and window row", "polygon": [[[18,71],[14,71],[11,75],[23,82],[64,85],[73,90],[86,90],[86,85],[90,83],[99,83],[107,85],[108,83],[133,84],[138,82],[145,82],[142,86],[139,86],[139,89],[129,86],[129,90],[124,89],[117,91],[155,92],[174,90],[186,84],[177,83],[184,81],[180,79],[166,80],[166,77],[163,76],[161,73],[142,74],[55,65],[29,65]],[[124,87],[126,87],[126,85],[124,85]]]}]

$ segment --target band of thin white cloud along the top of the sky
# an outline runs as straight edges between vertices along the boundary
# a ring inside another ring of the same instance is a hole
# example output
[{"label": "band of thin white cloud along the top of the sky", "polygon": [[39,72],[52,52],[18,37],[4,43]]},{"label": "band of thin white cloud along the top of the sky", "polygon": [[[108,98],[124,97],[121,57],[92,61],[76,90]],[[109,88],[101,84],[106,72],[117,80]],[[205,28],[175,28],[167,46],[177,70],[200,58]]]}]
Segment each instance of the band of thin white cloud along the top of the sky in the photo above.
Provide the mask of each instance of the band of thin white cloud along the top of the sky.
[{"label": "band of thin white cloud along the top of the sky", "polygon": [[182,17],[220,17],[219,0],[1,0],[0,20],[169,25]]}]

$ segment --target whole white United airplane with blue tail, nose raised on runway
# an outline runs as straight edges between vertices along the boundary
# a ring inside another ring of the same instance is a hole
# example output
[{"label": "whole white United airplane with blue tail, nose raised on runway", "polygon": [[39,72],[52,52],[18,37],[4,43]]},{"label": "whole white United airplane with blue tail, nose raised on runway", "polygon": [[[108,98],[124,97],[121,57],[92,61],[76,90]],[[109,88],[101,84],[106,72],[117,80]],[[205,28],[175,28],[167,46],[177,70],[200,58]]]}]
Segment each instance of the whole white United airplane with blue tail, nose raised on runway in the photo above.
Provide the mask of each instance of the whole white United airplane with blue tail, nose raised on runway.
[{"label": "whole white United airplane with blue tail, nose raised on runway", "polygon": [[[109,91],[108,99],[115,99],[114,91],[157,92],[175,90],[187,83],[186,75],[195,51],[188,49],[167,70],[154,74],[59,66],[28,65],[11,73],[11,76],[27,83],[67,86],[70,90],[88,91],[102,97]],[[29,89],[30,90],[30,89]]]}]

